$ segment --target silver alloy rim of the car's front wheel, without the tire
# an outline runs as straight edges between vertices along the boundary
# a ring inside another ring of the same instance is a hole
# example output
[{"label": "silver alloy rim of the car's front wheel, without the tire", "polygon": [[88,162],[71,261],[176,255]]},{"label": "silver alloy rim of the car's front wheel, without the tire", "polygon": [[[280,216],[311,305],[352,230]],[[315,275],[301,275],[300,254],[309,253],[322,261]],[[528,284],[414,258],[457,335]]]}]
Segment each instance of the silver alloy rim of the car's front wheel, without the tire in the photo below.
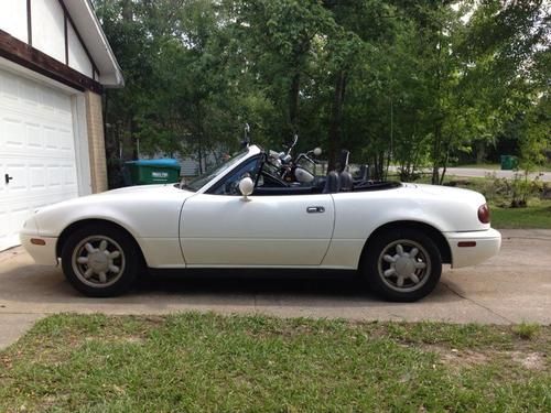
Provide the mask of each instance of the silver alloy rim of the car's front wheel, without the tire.
[{"label": "silver alloy rim of the car's front wheel, without the tire", "polygon": [[96,289],[106,287],[125,273],[125,251],[112,238],[90,236],[75,247],[71,263],[80,282]]}]

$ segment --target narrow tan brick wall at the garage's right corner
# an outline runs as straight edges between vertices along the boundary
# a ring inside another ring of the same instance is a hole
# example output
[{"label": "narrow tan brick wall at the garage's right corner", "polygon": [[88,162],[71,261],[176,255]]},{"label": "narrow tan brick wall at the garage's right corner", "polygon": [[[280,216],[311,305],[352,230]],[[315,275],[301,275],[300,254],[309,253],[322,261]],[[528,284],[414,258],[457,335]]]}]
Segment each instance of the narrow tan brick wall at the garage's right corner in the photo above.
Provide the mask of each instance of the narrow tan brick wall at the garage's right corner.
[{"label": "narrow tan brick wall at the garage's right corner", "polygon": [[88,150],[90,154],[91,192],[107,191],[107,164],[105,153],[104,119],[101,95],[87,90],[86,123],[88,129]]}]

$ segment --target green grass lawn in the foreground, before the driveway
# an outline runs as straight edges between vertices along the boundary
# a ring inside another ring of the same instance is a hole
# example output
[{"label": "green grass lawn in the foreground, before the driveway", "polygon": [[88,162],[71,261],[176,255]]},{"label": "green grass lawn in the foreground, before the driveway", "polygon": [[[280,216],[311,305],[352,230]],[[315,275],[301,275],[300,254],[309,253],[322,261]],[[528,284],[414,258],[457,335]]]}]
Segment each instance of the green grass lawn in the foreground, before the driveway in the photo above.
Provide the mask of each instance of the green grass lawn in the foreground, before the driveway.
[{"label": "green grass lawn in the foreground, before the driveway", "polygon": [[551,411],[551,327],[199,315],[45,318],[0,411]]}]

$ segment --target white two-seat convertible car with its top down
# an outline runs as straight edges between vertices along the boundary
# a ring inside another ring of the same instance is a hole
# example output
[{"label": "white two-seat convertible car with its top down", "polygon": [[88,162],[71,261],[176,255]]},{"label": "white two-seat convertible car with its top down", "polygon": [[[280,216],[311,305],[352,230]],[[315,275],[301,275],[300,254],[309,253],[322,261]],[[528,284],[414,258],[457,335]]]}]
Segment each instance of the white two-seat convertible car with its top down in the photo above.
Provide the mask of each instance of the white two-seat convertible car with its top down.
[{"label": "white two-seat convertible car with its top down", "polygon": [[437,284],[443,263],[474,265],[499,251],[478,193],[349,176],[339,185],[329,175],[290,185],[251,145],[187,185],[42,208],[21,241],[40,264],[61,260],[90,296],[126,292],[147,268],[255,268],[357,270],[387,300],[415,301]]}]

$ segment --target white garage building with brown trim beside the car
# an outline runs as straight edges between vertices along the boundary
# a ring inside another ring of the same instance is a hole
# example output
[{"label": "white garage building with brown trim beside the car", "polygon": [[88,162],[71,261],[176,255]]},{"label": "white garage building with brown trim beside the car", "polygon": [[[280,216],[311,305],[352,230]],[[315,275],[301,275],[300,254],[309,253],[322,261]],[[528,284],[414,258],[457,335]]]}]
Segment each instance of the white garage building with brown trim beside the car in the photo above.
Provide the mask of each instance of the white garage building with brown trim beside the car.
[{"label": "white garage building with brown trim beside the car", "polygon": [[101,95],[122,86],[87,0],[0,2],[0,251],[35,209],[107,189]]}]

